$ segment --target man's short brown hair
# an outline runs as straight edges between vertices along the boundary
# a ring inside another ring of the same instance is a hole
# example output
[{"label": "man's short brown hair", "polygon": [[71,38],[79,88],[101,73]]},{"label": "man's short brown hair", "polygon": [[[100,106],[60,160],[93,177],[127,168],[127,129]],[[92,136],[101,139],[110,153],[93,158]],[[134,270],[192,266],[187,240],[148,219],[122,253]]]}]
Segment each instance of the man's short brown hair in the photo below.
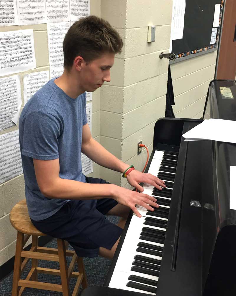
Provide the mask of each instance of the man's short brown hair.
[{"label": "man's short brown hair", "polygon": [[95,15],[73,23],[63,41],[64,67],[71,68],[74,59],[83,57],[86,62],[104,53],[121,53],[123,41],[109,22]]}]

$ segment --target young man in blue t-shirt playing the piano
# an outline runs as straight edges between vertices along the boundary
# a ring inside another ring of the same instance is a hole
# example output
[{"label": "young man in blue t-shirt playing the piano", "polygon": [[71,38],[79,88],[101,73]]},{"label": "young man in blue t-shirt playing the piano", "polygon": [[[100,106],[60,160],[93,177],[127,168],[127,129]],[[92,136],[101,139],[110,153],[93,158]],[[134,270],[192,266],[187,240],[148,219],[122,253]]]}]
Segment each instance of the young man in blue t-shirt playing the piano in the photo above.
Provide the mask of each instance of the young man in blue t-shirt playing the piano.
[{"label": "young man in blue t-shirt playing the piano", "polygon": [[[106,168],[124,173],[125,164],[92,139],[85,91],[110,81],[114,55],[123,43],[112,26],[93,15],[75,22],[63,42],[64,72],[25,105],[19,141],[25,194],[32,223],[45,234],[67,240],[80,257],[112,258],[127,215],[135,205],[158,207],[156,199],[82,174],[81,151]],[[127,181],[141,192],[146,182],[164,182],[132,170]],[[105,214],[123,219],[119,226]]]}]

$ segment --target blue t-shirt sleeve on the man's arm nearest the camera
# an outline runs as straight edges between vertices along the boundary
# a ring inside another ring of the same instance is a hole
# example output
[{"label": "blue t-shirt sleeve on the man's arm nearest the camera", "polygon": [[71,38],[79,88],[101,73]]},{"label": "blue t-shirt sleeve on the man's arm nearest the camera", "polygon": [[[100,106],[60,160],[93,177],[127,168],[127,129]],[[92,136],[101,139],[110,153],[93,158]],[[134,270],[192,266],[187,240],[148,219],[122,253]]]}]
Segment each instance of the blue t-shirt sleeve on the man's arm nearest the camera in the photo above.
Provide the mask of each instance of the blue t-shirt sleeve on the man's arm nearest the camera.
[{"label": "blue t-shirt sleeve on the man's arm nearest the camera", "polygon": [[45,111],[26,115],[22,154],[39,160],[53,160],[58,155],[60,121]]}]

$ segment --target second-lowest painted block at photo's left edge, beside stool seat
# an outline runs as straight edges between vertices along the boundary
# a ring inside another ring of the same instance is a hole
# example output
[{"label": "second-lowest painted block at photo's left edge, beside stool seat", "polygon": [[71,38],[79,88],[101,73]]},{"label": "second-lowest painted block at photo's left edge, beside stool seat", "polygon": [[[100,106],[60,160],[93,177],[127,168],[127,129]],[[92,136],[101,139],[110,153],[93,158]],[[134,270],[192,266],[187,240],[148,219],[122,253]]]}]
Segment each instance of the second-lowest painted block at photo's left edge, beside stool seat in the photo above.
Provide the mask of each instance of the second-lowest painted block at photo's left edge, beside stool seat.
[{"label": "second-lowest painted block at photo's left edge, beside stool seat", "polygon": [[0,218],[0,250],[12,243],[17,237],[17,231],[12,227],[9,214]]}]

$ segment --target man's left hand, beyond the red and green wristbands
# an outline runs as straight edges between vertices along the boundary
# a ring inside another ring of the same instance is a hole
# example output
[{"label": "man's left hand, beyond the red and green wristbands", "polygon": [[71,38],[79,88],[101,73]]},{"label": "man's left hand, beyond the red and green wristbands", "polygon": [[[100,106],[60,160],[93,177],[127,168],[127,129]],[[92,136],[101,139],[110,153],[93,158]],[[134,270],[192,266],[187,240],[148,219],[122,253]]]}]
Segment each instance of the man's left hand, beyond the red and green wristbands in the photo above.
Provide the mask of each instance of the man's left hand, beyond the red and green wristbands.
[{"label": "man's left hand, beyond the red and green wristbands", "polygon": [[153,185],[159,190],[162,190],[160,186],[165,188],[165,181],[160,180],[158,177],[153,176],[152,174],[141,173],[138,170],[132,170],[128,176],[127,181],[130,183],[131,186],[135,187],[140,192],[143,192],[142,186],[139,183],[147,183]]}]

